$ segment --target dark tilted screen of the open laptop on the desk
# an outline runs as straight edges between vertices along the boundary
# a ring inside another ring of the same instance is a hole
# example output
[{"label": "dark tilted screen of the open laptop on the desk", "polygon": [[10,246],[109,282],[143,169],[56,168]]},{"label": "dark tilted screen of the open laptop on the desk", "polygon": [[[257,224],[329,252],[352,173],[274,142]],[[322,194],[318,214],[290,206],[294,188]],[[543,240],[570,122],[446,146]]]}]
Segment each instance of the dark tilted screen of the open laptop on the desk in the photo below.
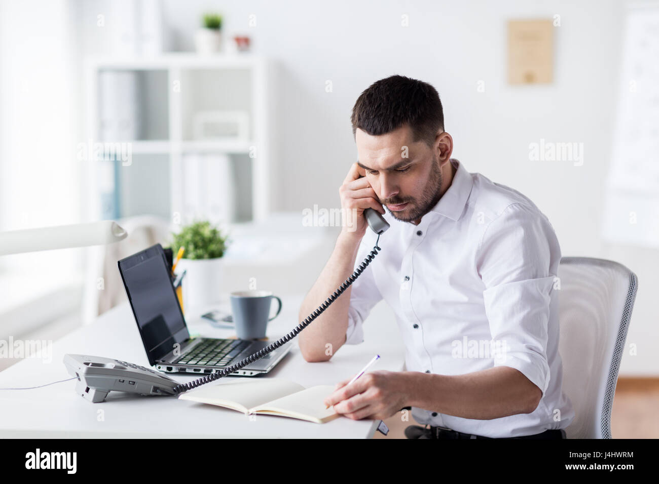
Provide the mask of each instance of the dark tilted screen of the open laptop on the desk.
[{"label": "dark tilted screen of the open laptop on the desk", "polygon": [[130,306],[152,365],[190,335],[160,244],[119,261]]}]

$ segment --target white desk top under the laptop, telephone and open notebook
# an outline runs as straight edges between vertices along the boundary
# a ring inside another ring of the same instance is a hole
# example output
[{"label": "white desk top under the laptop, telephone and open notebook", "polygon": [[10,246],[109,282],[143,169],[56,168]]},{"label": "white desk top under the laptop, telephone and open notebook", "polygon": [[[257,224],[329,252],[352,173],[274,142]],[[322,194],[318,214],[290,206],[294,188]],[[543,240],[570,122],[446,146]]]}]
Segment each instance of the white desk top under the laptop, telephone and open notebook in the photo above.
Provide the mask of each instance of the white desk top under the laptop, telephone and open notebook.
[{"label": "white desk top under the laptop, telephone and open notebook", "polygon": [[[295,325],[302,296],[284,297],[283,310],[270,323],[268,336],[279,338]],[[378,310],[376,310],[378,309]],[[351,377],[374,354],[382,359],[373,369],[400,371],[404,349],[386,306],[376,307],[365,325],[364,343],[345,345],[329,362],[304,361],[297,342],[291,352],[262,378],[277,377],[304,387],[333,385]],[[227,337],[233,330],[214,329],[204,319],[188,314],[190,333]],[[126,302],[108,311],[92,325],[81,327],[52,344],[51,361],[27,358],[0,372],[0,388],[34,387],[69,378],[62,358],[67,353],[117,358],[148,367],[136,323]],[[198,377],[198,376],[197,376]],[[193,377],[173,375],[177,381]],[[219,382],[235,381],[226,377]],[[108,394],[105,402],[92,404],[75,391],[75,381],[32,390],[0,390],[0,437],[293,437],[370,438],[378,421],[353,421],[339,417],[325,424],[276,416],[252,416],[207,404],[168,396]],[[209,385],[215,385],[210,383]]]}]

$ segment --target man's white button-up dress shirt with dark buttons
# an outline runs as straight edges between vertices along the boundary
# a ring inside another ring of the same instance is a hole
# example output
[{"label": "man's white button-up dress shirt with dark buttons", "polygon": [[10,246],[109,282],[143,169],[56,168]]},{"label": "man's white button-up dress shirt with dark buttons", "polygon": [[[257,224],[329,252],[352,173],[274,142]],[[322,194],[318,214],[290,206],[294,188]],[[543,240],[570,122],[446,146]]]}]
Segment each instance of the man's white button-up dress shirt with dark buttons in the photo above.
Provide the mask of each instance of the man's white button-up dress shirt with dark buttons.
[{"label": "man's white button-up dress shirt with dark buttons", "polygon": [[[384,216],[391,228],[380,236],[382,251],[352,285],[346,342],[364,340],[362,322],[384,299],[408,371],[462,375],[505,365],[542,390],[530,414],[478,420],[413,408],[416,421],[484,437],[565,429],[574,413],[561,391],[554,229],[521,193],[451,163],[451,186],[419,225]],[[366,230],[355,267],[376,238]]]}]

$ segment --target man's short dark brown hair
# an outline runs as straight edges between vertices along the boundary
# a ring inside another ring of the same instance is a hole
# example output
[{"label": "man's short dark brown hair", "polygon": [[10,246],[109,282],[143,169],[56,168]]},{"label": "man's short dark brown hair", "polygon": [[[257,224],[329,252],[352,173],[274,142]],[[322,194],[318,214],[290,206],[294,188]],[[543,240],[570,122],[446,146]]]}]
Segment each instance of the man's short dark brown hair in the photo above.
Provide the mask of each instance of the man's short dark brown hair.
[{"label": "man's short dark brown hair", "polygon": [[437,132],[444,130],[444,111],[440,95],[430,84],[395,75],[374,82],[359,95],[351,122],[353,137],[357,128],[380,136],[409,124],[415,142],[432,146]]}]

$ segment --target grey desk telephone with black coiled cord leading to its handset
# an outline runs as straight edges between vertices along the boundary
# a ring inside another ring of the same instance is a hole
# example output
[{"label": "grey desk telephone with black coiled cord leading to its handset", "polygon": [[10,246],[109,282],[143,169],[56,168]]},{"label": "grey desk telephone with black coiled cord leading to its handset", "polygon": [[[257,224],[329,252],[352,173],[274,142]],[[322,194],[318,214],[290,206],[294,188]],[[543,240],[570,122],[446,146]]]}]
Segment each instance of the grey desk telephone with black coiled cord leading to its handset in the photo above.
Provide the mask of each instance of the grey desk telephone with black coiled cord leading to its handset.
[{"label": "grey desk telephone with black coiled cord leading to its handset", "polygon": [[254,363],[256,360],[263,358],[266,354],[273,352],[279,346],[289,342],[297,336],[302,329],[306,328],[316,317],[320,316],[325,309],[345,292],[349,286],[355,282],[364,269],[370,264],[378,251],[382,250],[378,246],[380,242],[380,235],[389,229],[389,224],[382,217],[380,213],[374,209],[365,209],[364,217],[368,222],[373,232],[378,234],[373,250],[371,250],[366,258],[359,264],[355,272],[353,272],[348,279],[346,279],[337,290],[335,290],[323,304],[318,306],[318,309],[313,311],[304,319],[299,325],[293,328],[293,331],[287,335],[279,338],[277,341],[272,342],[262,350],[243,358],[234,365],[225,367],[225,369],[217,373],[210,373],[202,378],[190,381],[189,383],[177,383],[175,380],[161,375],[160,373],[132,363],[123,362],[121,360],[111,360],[109,358],[102,358],[100,356],[86,356],[86,355],[70,355],[64,356],[64,363],[72,376],[77,377],[78,383],[76,384],[76,392],[89,400],[90,402],[97,403],[105,400],[108,392],[121,391],[141,395],[177,395],[187,390],[192,390],[200,385],[210,383],[221,377],[231,375],[239,369]]}]

